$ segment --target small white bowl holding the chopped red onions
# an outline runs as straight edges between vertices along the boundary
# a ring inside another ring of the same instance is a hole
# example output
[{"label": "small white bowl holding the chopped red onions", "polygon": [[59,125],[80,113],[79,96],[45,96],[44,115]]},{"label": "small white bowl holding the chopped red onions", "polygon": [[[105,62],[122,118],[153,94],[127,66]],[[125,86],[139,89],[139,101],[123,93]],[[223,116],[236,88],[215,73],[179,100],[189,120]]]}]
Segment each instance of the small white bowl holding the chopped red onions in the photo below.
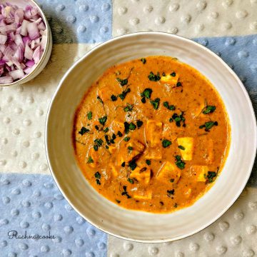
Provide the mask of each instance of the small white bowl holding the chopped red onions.
[{"label": "small white bowl holding the chopped red onions", "polygon": [[[7,1],[7,2],[9,2],[9,1]],[[31,79],[34,79],[36,76],[38,76],[41,73],[41,71],[43,71],[44,67],[48,63],[49,58],[51,56],[51,50],[52,50],[52,47],[53,47],[53,39],[52,39],[52,34],[51,34],[51,28],[50,28],[49,23],[46,19],[46,16],[44,15],[44,12],[41,10],[39,5],[36,4],[36,1],[34,1],[34,0],[12,0],[12,1],[10,1],[10,3],[14,4],[16,6],[19,6],[22,9],[24,9],[27,5],[36,6],[36,8],[39,9],[40,16],[43,19],[44,24],[46,25],[46,32],[47,32],[46,48],[44,49],[44,52],[41,56],[41,59],[40,59],[39,63],[37,64],[36,68],[33,71],[31,71],[30,74],[27,74],[22,79],[14,81],[10,84],[0,84],[0,86],[21,85],[21,84],[24,84],[28,81],[31,81]]]}]

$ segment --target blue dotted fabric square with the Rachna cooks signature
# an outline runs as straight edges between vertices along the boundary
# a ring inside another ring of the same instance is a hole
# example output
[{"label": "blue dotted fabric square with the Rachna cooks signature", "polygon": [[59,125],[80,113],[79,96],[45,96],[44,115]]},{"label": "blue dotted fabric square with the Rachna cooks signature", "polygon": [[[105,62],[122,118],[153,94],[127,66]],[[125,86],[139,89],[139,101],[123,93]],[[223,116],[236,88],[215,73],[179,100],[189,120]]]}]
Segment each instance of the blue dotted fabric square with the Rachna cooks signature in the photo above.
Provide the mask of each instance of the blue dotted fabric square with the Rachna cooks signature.
[{"label": "blue dotted fabric square with the Rachna cooks signature", "polygon": [[106,233],[74,211],[51,176],[2,174],[0,196],[0,256],[106,256]]}]

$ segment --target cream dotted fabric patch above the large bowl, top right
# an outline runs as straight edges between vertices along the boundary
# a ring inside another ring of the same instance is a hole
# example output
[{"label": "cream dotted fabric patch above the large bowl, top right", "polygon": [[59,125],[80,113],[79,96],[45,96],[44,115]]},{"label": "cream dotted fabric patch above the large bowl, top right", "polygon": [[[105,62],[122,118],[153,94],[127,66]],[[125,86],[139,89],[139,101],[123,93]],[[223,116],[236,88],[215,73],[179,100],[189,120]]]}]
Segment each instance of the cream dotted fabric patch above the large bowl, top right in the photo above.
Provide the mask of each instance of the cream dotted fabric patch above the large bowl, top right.
[{"label": "cream dotted fabric patch above the large bowl, top right", "polygon": [[114,0],[113,35],[165,31],[186,37],[256,34],[255,0]]}]

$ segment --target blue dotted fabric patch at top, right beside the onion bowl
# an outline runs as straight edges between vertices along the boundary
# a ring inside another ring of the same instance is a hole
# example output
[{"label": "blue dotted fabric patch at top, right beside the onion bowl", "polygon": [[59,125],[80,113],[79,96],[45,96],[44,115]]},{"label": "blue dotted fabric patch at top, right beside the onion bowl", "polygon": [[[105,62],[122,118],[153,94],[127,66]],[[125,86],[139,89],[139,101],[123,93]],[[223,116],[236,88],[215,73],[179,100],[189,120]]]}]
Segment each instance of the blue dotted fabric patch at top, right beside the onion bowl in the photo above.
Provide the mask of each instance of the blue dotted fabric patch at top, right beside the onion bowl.
[{"label": "blue dotted fabric patch at top, right beside the onion bowl", "polygon": [[54,44],[111,39],[111,0],[38,0],[53,33]]}]

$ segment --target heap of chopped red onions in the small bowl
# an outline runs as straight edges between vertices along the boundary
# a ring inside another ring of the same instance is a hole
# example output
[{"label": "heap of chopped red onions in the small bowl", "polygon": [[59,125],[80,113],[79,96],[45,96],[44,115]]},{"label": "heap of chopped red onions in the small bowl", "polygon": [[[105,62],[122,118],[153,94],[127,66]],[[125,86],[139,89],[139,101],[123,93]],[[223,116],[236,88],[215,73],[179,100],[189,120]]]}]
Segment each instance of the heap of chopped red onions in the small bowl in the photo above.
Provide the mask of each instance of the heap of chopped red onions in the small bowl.
[{"label": "heap of chopped red onions in the small bowl", "polygon": [[33,71],[46,48],[46,24],[33,6],[0,4],[0,84]]}]

